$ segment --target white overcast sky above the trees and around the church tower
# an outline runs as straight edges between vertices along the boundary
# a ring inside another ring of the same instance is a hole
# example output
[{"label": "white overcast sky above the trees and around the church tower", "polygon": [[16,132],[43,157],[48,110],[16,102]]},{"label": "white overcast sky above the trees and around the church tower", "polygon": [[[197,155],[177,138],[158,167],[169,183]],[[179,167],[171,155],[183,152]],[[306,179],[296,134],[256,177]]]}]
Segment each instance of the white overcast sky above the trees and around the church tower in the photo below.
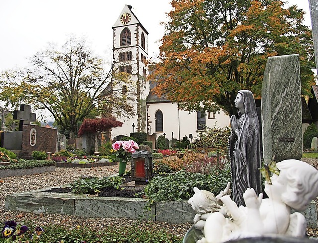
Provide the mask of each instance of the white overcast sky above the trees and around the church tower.
[{"label": "white overcast sky above the trees and around the church tower", "polygon": [[[159,54],[158,40],[164,33],[171,0],[0,0],[0,72],[23,67],[28,58],[48,42],[62,45],[71,34],[85,37],[92,50],[106,60],[111,58],[112,26],[125,4],[149,32],[149,56]],[[287,0],[306,11],[308,0]]]}]

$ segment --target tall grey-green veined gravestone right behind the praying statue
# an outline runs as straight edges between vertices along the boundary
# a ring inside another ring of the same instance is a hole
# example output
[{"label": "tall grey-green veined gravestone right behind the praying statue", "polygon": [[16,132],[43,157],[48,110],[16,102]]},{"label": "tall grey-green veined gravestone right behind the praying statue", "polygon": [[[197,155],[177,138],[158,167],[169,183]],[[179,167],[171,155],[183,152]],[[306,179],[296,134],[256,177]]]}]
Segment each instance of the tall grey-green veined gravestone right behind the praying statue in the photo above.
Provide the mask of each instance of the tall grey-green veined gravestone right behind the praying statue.
[{"label": "tall grey-green veined gravestone right behind the praying statue", "polygon": [[302,107],[299,56],[269,57],[262,85],[265,163],[302,157]]}]

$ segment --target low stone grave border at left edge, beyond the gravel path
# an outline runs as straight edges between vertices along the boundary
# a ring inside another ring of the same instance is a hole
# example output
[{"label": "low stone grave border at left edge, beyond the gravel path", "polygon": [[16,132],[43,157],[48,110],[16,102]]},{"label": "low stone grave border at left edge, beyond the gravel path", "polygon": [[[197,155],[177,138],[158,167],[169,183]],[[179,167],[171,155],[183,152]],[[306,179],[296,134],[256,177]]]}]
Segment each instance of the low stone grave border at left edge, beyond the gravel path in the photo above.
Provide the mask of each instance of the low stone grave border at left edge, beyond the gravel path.
[{"label": "low stone grave border at left edge, beyond the gravel path", "polygon": [[55,171],[54,165],[23,168],[23,169],[0,169],[0,178],[10,177],[10,176],[23,176],[23,175],[30,175],[30,174],[42,174],[42,173],[54,172],[54,171]]}]

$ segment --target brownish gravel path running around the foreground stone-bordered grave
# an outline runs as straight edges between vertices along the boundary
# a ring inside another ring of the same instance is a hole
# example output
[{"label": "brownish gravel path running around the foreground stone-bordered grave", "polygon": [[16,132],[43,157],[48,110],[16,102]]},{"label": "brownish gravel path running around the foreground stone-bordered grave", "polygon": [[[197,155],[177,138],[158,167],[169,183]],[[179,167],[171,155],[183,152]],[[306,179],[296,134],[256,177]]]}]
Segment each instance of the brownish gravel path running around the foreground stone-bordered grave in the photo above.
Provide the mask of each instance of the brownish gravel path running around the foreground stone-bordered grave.
[{"label": "brownish gravel path running around the foreground stone-bordered grave", "polygon": [[[317,159],[304,159],[318,169]],[[127,169],[130,169],[127,167]],[[48,224],[65,224],[66,227],[73,228],[77,225],[86,226],[107,226],[107,225],[131,225],[135,220],[127,218],[80,218],[74,216],[58,214],[41,214],[13,212],[4,210],[5,197],[8,194],[36,190],[40,188],[59,186],[73,182],[83,175],[103,177],[118,173],[118,166],[95,167],[95,168],[56,168],[55,172],[43,173],[38,175],[26,175],[0,178],[0,224],[5,220],[16,220],[18,223],[31,220],[37,225],[46,226]],[[316,199],[316,205],[318,200]],[[317,208],[318,209],[318,208]],[[191,224],[167,224],[164,222],[152,222],[154,227],[165,229],[171,234],[184,236]],[[143,224],[140,224],[141,226]],[[310,237],[318,237],[318,229],[308,228],[307,233]]]}]

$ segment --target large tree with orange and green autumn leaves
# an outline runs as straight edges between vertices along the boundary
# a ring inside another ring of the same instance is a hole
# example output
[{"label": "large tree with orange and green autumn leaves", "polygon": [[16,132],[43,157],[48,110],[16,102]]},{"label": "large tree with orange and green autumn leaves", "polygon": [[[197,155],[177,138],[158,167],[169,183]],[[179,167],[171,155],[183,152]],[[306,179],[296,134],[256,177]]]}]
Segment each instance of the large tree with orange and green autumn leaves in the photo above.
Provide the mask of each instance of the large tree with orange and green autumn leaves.
[{"label": "large tree with orange and green autumn leaves", "polygon": [[[315,83],[312,33],[304,11],[280,0],[172,0],[150,79],[188,111],[236,114],[236,92],[261,96],[267,58],[299,54],[302,94]],[[203,104],[203,109],[200,108]]]}]

